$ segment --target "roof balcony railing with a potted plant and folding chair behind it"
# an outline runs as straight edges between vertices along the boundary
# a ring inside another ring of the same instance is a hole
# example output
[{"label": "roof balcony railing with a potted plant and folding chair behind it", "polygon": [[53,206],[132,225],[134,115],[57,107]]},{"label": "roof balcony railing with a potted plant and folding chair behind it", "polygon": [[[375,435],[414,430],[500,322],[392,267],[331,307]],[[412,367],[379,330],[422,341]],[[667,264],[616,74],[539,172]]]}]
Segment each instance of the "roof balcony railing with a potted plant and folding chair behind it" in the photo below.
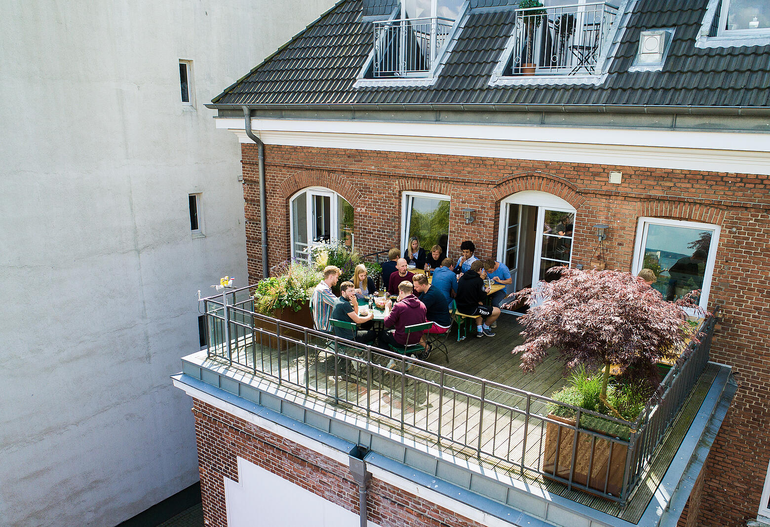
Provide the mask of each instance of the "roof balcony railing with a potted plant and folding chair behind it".
[{"label": "roof balcony railing with a potted plant and folding chair behind it", "polygon": [[606,2],[516,10],[512,73],[595,75],[618,8]]}]

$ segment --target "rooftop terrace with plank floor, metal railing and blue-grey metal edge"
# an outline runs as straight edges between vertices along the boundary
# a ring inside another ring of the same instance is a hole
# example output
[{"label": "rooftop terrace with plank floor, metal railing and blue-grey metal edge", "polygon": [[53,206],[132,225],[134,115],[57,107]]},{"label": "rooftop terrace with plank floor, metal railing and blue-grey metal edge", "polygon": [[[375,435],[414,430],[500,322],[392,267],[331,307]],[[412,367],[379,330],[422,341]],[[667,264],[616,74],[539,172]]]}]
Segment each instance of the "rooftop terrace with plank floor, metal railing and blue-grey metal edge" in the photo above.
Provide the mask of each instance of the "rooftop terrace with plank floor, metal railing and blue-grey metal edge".
[{"label": "rooftop terrace with plank floor, metal railing and blue-grey metal edge", "polygon": [[[183,359],[182,376],[519,509],[527,507],[521,495],[503,492],[511,487],[504,479],[608,520],[592,525],[640,522],[688,435],[700,430],[693,445],[701,439],[729,381],[729,369],[708,362],[715,322],[708,319],[707,337],[671,369],[638,422],[602,418],[621,430],[608,437],[577,429],[579,416],[564,424],[550,415],[567,369],[552,351],[523,372],[511,354],[521,342],[512,316],[500,319],[494,338],[457,342],[453,330],[448,361],[434,352],[428,361],[398,360],[393,370],[389,352],[257,315],[245,291],[227,302],[229,324],[222,297],[206,302],[211,345]],[[691,426],[698,419],[699,429]],[[443,461],[453,468],[440,469]],[[688,459],[679,463],[684,471]],[[494,474],[493,482],[481,489],[471,466],[487,479]],[[547,509],[535,514],[547,517]]]}]

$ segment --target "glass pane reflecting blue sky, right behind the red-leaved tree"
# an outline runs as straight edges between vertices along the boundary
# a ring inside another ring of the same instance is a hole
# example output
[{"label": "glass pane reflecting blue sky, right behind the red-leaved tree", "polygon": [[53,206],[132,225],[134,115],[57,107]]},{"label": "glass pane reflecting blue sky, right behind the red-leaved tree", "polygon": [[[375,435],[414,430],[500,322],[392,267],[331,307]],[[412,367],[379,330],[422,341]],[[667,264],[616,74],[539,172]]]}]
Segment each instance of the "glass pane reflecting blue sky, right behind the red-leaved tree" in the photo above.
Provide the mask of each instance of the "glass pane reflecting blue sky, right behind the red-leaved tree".
[{"label": "glass pane reflecting blue sky, right behind the red-leaved tree", "polygon": [[642,269],[658,276],[652,287],[666,300],[703,288],[712,234],[707,229],[648,224]]}]

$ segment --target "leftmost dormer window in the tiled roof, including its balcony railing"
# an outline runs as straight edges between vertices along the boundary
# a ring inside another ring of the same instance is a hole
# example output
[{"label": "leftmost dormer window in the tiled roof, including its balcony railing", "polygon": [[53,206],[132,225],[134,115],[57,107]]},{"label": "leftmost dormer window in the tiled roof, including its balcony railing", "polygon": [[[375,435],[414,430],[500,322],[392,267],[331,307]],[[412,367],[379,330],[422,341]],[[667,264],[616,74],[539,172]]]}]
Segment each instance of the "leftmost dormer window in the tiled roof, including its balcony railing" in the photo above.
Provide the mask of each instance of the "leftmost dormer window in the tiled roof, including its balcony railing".
[{"label": "leftmost dormer window in the tiled roof, including its balcony railing", "polygon": [[430,77],[463,0],[402,0],[396,18],[374,22],[375,78]]}]

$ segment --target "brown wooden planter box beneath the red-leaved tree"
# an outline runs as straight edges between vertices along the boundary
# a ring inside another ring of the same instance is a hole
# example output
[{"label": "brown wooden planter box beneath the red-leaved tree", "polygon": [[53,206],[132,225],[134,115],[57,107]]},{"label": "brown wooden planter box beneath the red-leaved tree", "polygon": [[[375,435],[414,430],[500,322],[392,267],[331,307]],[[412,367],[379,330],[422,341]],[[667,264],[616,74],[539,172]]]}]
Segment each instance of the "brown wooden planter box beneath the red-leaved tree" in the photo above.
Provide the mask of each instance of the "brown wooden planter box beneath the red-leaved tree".
[{"label": "brown wooden planter box beneath the red-leaved tree", "polygon": [[[565,425],[574,426],[571,419],[549,414],[549,419],[563,422]],[[559,433],[561,429],[561,434]],[[572,459],[572,444],[575,431],[557,423],[548,422],[545,428],[545,452],[543,456],[543,472],[554,474],[559,478],[569,479],[570,462]],[[601,432],[599,432],[601,433]],[[577,432],[577,449],[575,449],[575,464],[572,474],[572,482],[585,485],[589,489],[604,493],[604,484],[607,483],[607,493],[620,496],[623,490],[623,472],[625,470],[628,447],[614,443],[610,457],[609,439],[596,437],[593,442],[594,460],[591,462],[591,440],[594,435]],[[558,460],[557,460],[558,452]],[[556,463],[558,463],[556,465]],[[588,478],[588,465],[591,463],[591,478]],[[610,471],[607,472],[609,464]],[[578,490],[580,490],[578,488]]]}]

